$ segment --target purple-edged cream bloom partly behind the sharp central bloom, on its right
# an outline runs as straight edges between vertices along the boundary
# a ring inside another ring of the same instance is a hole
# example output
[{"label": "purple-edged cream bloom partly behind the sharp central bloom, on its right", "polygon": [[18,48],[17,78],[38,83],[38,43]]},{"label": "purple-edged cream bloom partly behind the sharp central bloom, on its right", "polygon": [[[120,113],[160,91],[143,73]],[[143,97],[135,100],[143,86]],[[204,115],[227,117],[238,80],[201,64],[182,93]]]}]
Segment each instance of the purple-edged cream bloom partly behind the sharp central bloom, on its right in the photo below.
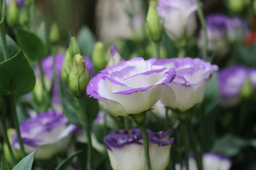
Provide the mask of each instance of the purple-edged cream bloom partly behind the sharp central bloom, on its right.
[{"label": "purple-edged cream bloom partly behind the sharp central bloom, on its right", "polygon": [[218,70],[216,65],[189,57],[159,59],[155,64],[175,68],[176,77],[164,85],[161,101],[165,106],[180,111],[186,111],[202,102],[210,74]]}]

